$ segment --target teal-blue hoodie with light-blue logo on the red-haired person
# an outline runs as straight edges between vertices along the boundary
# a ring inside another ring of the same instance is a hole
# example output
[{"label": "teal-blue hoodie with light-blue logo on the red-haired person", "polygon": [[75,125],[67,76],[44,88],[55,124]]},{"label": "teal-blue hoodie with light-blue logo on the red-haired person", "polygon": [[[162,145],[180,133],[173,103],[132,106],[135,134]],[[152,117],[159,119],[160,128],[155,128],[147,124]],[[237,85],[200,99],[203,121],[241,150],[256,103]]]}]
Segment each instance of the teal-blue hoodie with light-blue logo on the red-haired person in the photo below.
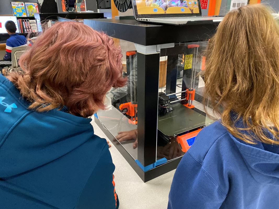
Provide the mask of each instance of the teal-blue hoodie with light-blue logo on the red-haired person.
[{"label": "teal-blue hoodie with light-blue logo on the red-haired person", "polygon": [[92,119],[28,105],[0,75],[0,208],[118,208],[115,167]]}]

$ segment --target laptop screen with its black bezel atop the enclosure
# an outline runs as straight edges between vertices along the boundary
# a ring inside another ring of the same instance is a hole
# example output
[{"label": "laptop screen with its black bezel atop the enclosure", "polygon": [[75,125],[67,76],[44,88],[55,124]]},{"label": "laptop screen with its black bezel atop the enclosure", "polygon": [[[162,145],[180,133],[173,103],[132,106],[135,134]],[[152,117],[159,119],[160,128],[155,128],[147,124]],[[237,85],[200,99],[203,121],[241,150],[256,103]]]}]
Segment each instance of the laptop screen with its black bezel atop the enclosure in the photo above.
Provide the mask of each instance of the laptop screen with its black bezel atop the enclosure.
[{"label": "laptop screen with its black bezel atop the enclosure", "polygon": [[201,16],[200,0],[133,0],[135,16]]}]

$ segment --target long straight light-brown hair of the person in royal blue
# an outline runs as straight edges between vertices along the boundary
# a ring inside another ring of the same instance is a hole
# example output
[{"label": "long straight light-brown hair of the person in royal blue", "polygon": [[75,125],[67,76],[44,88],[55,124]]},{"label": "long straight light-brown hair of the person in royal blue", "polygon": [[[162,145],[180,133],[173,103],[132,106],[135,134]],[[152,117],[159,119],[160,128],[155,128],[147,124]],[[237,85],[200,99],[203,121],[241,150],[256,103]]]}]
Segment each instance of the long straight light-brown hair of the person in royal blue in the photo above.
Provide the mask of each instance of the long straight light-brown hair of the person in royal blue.
[{"label": "long straight light-brown hair of the person in royal blue", "polygon": [[[279,145],[279,24],[271,10],[258,4],[230,11],[210,40],[203,76],[213,110],[232,135]],[[245,128],[235,126],[240,116]]]}]

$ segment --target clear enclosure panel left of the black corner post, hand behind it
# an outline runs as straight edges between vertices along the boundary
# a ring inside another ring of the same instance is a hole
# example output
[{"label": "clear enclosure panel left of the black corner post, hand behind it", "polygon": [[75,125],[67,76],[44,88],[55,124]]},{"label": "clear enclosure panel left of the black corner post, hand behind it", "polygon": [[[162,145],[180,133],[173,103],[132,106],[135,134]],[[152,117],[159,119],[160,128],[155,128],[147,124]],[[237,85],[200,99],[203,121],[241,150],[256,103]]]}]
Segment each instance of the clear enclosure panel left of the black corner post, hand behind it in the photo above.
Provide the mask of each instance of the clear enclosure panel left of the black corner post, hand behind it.
[{"label": "clear enclosure panel left of the black corner post, hand behind it", "polygon": [[123,76],[127,85],[111,88],[105,98],[107,110],[98,110],[97,116],[104,128],[137,159],[137,52],[134,43],[114,38],[122,49]]}]

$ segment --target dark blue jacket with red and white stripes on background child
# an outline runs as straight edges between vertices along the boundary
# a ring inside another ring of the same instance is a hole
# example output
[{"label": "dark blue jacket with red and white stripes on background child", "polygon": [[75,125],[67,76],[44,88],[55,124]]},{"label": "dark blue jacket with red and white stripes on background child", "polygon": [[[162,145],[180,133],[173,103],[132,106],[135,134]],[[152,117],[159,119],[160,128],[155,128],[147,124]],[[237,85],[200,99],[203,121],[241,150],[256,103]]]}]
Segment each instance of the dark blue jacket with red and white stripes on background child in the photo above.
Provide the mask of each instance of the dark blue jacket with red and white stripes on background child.
[{"label": "dark blue jacket with red and white stripes on background child", "polygon": [[23,35],[12,34],[6,40],[6,54],[4,56],[4,60],[11,60],[11,52],[12,48],[20,47],[26,44],[26,38]]}]

